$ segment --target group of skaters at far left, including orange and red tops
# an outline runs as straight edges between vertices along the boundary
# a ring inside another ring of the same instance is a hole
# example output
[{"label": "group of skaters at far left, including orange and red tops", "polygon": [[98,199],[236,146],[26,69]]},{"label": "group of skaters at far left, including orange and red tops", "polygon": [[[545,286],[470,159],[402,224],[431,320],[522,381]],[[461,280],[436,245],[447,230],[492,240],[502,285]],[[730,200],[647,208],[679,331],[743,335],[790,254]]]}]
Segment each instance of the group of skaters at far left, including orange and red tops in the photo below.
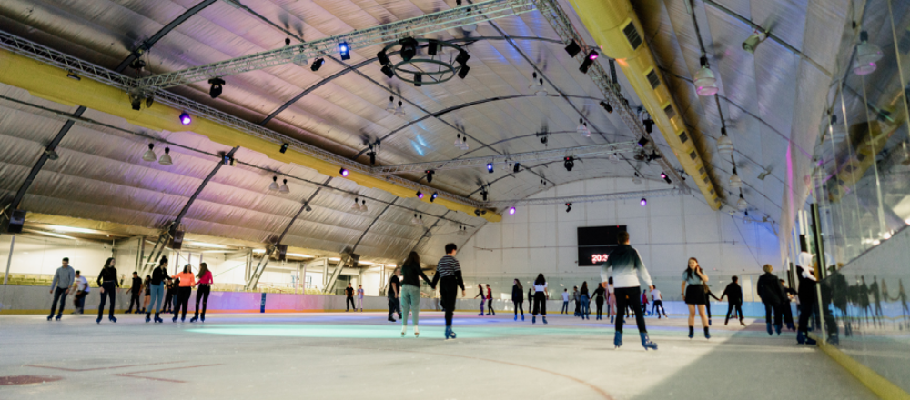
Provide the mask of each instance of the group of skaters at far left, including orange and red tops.
[{"label": "group of skaters at far left, including orange and red tops", "polygon": [[[171,318],[171,322],[176,323],[177,318],[180,319],[180,322],[185,322],[187,320],[189,297],[192,295],[193,288],[196,287],[196,315],[189,322],[206,322],[208,295],[211,292],[211,286],[215,283],[211,271],[208,270],[208,265],[200,263],[199,271],[194,275],[192,265],[187,264],[184,265],[180,273],[171,276],[167,274],[167,264],[167,256],[162,256],[157,267],[152,270],[151,275],[146,276],[145,281],[140,279],[136,272],[133,273],[133,282],[129,289],[131,295],[130,303],[129,308],[126,309],[126,314],[145,314],[146,322],[148,323],[153,320],[152,314],[154,313],[155,323],[163,323],[164,320],[160,317],[161,313],[165,313],[172,308],[174,317]],[[116,306],[116,294],[120,291],[120,282],[117,280],[115,265],[116,260],[114,257],[108,258],[98,274],[97,284],[98,292],[101,295],[101,303],[98,305],[97,324],[101,324],[108,300],[110,301],[110,306],[107,319],[112,323],[116,323],[114,308]],[[167,295],[165,294],[166,286]],[[51,314],[47,315],[47,320],[60,320],[66,307],[66,295],[69,295],[70,292],[75,293],[76,311],[74,311],[74,314],[82,314],[85,308],[86,295],[90,291],[86,278],[69,265],[69,258],[64,258],[62,265],[57,268],[54,280],[51,283],[51,293],[54,294],[54,301],[51,305]],[[140,308],[139,297],[143,292],[146,299],[144,305]],[[199,312],[200,302],[202,304],[201,314]],[[165,309],[162,309],[162,303],[165,304]],[[59,308],[57,307],[58,305]],[[133,311],[133,305],[136,305],[135,311]]]}]

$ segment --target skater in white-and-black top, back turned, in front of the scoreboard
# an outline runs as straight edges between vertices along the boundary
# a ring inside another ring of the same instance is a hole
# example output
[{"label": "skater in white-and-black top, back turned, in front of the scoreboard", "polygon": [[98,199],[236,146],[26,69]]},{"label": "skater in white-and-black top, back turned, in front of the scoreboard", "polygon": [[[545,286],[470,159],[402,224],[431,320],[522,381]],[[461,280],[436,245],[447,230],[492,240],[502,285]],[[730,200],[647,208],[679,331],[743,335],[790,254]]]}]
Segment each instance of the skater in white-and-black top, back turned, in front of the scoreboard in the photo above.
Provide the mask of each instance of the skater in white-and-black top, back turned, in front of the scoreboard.
[{"label": "skater in white-and-black top, back turned, in front of the scoreboard", "polygon": [[[607,257],[607,262],[601,265],[601,280],[603,282],[612,282],[616,285],[614,292],[616,295],[616,305],[619,309],[626,308],[626,302],[631,303],[632,309],[635,310],[635,323],[638,325],[639,336],[642,338],[642,346],[645,350],[657,350],[657,344],[653,343],[648,337],[648,328],[644,325],[644,313],[642,313],[642,302],[640,295],[642,293],[642,283],[653,290],[654,285],[651,281],[651,275],[642,262],[642,256],[638,250],[629,245],[629,233],[620,232],[617,235],[618,245]],[[613,345],[616,348],[622,346],[622,317],[616,318],[616,334],[613,337]]]}]

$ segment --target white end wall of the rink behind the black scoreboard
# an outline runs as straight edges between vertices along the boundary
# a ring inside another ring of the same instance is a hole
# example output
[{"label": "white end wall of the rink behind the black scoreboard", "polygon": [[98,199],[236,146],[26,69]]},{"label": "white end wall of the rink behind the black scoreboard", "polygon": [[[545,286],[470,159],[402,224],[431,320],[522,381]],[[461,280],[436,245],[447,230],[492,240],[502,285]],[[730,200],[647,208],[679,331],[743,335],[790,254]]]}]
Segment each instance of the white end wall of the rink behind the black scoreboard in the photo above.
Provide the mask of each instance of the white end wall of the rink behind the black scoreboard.
[{"label": "white end wall of the rink behind the black scoreboard", "polygon": [[[551,188],[533,197],[598,195],[666,188],[630,179],[595,179]],[[741,219],[713,211],[701,195],[649,198],[572,205],[517,207],[515,215],[503,215],[499,224],[486,224],[460,248],[458,258],[466,284],[492,283],[494,296],[509,293],[511,279],[527,282],[543,273],[551,289],[596,285],[600,268],[577,265],[576,228],[580,226],[627,225],[631,245],[639,250],[655,283],[665,297],[679,292],[682,271],[690,256],[713,276],[718,295],[730,275],[761,273],[761,265],[776,265],[780,251],[776,236],[765,224],[745,224]],[[565,286],[559,286],[563,284]],[[555,286],[555,287],[554,287]]]}]

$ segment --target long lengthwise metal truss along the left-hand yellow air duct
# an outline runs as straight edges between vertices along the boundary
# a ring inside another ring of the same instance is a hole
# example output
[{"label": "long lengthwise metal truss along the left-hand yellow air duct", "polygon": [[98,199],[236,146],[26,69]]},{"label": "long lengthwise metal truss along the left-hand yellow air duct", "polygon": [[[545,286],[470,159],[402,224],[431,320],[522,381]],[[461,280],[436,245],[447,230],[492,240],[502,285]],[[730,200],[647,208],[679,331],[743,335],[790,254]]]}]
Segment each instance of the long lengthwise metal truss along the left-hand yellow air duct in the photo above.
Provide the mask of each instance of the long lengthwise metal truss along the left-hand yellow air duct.
[{"label": "long lengthwise metal truss along the left-hand yellow air duct", "polygon": [[[87,63],[74,56],[60,53],[44,45],[38,45],[21,37],[10,35],[2,31],[0,31],[0,48],[13,52],[17,55],[23,55],[27,58],[31,58],[42,63],[55,65],[81,77],[89,78],[106,85],[113,85],[121,90],[124,90],[125,92],[129,91],[130,88],[134,86],[134,80],[126,75],[120,75],[104,67]],[[187,113],[190,113],[194,117],[202,117],[206,118],[209,121],[216,122],[217,124],[230,126],[240,132],[271,142],[276,145],[276,148],[287,143],[288,148],[292,150],[319,159],[321,161],[331,163],[333,165],[338,165],[339,167],[343,167],[350,172],[356,172],[362,175],[369,175],[383,179],[395,185],[413,189],[415,192],[438,192],[440,194],[440,197],[463,205],[470,205],[475,208],[480,208],[482,206],[482,202],[480,201],[476,201],[460,195],[453,195],[447,192],[442,192],[439,189],[430,187],[428,185],[420,185],[416,182],[400,178],[398,176],[382,176],[375,174],[372,168],[368,165],[360,164],[357,161],[351,160],[341,155],[336,155],[317,146],[308,145],[289,136],[278,134],[278,132],[272,131],[266,127],[253,124],[247,120],[238,118],[237,116],[229,115],[222,111],[218,111],[215,108],[197,103],[196,101],[175,95],[165,90],[157,90],[154,94],[151,94],[151,96],[158,103],[170,105],[180,110],[185,110]],[[128,106],[126,104],[126,100],[124,101],[124,106]]]}]

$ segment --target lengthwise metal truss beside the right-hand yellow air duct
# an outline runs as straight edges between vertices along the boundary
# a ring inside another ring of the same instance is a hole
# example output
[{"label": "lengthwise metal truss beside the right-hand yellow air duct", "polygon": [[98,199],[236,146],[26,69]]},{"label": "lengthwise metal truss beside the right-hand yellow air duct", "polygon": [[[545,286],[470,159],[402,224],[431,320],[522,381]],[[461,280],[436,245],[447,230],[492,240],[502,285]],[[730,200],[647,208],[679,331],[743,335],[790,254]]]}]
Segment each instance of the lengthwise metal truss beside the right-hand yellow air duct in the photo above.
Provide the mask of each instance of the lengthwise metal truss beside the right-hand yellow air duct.
[{"label": "lengthwise metal truss beside the right-hand yellow air duct", "polygon": [[[581,35],[575,30],[575,27],[571,25],[569,16],[562,10],[559,2],[556,0],[533,0],[533,2],[534,5],[537,6],[538,11],[541,12],[541,15],[550,22],[550,25],[553,27],[553,30],[556,31],[556,34],[560,35],[560,38],[564,43],[568,44],[574,40],[575,43],[584,44],[584,40],[581,39]],[[587,56],[586,52],[579,52],[578,55],[575,55],[575,59],[581,63],[585,56]],[[635,115],[635,112],[632,111],[632,108],[627,105],[622,98],[619,84],[610,80],[610,75],[607,75],[600,63],[591,65],[591,69],[588,70],[588,76],[591,77],[594,84],[601,90],[601,93],[613,106],[616,113],[620,115],[622,122],[629,127],[632,134],[636,137],[647,137],[653,143],[651,135],[645,132],[642,121],[639,120],[638,116]],[[654,151],[661,153],[656,145],[654,146]],[[658,160],[658,164],[662,166],[663,173],[670,176],[673,185],[676,185],[683,193],[688,194],[690,192],[691,189],[685,184],[679,173],[676,172],[676,168],[667,161],[667,157],[662,156]]]}]

